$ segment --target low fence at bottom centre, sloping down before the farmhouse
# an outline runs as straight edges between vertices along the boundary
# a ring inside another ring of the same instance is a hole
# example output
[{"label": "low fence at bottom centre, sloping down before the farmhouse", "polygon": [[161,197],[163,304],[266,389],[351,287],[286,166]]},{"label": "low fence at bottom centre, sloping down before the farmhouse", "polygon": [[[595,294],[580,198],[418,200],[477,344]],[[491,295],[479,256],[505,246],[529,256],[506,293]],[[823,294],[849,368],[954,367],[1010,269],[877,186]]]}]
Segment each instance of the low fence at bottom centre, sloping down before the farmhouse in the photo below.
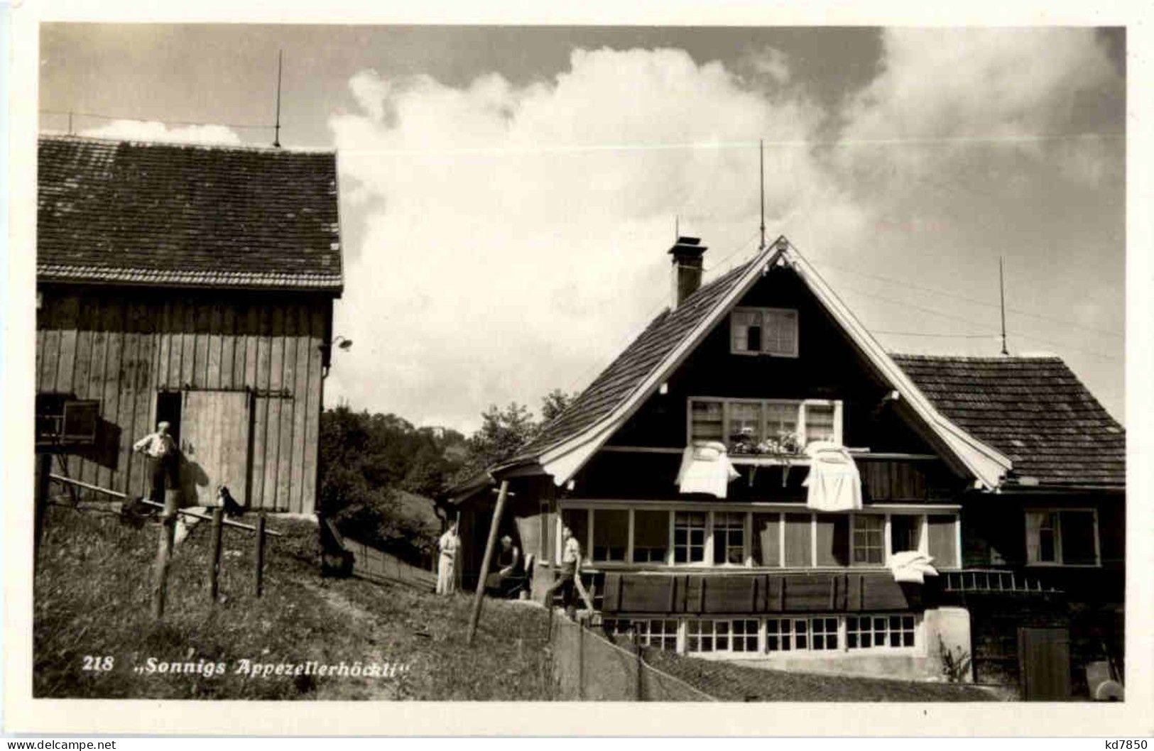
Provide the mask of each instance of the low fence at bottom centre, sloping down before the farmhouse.
[{"label": "low fence at bottom centre, sloping down before the farmhouse", "polygon": [[561,701],[717,701],[649,666],[634,644],[623,648],[568,618],[553,618],[549,634]]}]

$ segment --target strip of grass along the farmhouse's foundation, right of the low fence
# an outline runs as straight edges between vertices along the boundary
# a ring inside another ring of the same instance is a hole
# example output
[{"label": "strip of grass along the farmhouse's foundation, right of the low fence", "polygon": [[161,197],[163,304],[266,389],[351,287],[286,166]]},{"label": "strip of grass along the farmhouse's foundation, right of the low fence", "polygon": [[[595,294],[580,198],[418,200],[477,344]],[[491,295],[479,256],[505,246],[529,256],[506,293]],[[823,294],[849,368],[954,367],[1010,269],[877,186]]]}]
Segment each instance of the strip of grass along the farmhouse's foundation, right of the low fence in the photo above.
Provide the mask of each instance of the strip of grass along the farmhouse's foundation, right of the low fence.
[{"label": "strip of grass along the farmhouse's foundation, right of the low fence", "polygon": [[649,651],[646,660],[722,701],[991,701],[972,685],[786,673]]}]

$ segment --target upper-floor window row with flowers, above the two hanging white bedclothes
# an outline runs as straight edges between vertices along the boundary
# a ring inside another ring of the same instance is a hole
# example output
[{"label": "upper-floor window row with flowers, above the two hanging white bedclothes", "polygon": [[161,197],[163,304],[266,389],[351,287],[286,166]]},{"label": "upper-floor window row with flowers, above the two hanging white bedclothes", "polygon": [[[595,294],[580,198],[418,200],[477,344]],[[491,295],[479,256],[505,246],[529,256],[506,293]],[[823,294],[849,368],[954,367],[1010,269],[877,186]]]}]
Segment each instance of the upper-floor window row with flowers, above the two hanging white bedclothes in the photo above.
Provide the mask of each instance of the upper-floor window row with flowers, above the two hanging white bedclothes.
[{"label": "upper-floor window row with flowers, above the two hanging white bedclothes", "polygon": [[839,403],[827,399],[694,398],[689,437],[730,445],[775,443],[804,449],[812,441],[841,441]]}]

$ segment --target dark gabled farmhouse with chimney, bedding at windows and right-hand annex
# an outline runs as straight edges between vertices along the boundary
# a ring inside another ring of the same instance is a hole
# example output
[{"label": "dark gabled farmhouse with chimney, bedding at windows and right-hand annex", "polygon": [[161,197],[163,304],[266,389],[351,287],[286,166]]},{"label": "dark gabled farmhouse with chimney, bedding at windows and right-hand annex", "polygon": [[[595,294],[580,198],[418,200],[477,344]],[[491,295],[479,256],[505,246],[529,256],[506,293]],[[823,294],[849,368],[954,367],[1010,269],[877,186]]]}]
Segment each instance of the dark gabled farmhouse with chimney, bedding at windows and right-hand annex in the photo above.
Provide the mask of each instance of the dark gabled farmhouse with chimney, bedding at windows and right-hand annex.
[{"label": "dark gabled farmhouse with chimney, bedding at windows and right-hand annex", "polygon": [[[567,526],[604,628],[650,646],[896,677],[947,649],[1029,697],[1121,664],[1125,434],[1059,359],[890,354],[784,238],[700,286],[704,251],[489,470],[537,596]],[[451,494],[466,585],[495,496]]]}]

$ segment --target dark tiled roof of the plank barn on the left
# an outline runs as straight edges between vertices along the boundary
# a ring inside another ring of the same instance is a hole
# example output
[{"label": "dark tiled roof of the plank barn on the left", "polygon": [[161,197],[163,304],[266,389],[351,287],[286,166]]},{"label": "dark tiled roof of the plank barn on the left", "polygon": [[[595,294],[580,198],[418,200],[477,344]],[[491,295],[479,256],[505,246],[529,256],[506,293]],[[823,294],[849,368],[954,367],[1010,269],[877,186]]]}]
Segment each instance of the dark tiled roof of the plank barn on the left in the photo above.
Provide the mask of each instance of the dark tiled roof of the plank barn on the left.
[{"label": "dark tiled roof of the plank barn on the left", "polygon": [[40,281],[339,293],[332,152],[42,136]]}]

